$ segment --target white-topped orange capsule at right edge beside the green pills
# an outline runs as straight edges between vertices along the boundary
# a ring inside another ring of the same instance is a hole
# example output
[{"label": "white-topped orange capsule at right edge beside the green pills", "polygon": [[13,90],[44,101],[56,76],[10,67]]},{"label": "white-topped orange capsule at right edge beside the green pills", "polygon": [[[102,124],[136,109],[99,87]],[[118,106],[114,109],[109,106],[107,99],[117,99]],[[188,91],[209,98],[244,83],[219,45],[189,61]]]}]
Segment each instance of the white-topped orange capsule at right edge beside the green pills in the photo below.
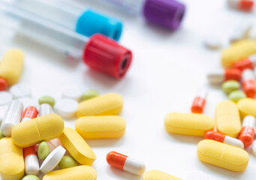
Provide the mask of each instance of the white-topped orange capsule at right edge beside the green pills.
[{"label": "white-topped orange capsule at right edge beside the green pills", "polygon": [[251,69],[242,71],[242,89],[248,98],[254,98],[256,95],[254,72]]}]

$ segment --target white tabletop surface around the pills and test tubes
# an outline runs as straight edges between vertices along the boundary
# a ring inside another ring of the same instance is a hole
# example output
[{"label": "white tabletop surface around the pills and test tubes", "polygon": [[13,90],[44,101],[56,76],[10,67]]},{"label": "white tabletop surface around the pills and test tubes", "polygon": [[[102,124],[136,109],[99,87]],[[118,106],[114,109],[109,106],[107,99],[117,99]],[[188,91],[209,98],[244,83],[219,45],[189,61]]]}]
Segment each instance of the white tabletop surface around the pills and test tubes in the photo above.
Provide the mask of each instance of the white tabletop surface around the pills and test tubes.
[{"label": "white tabletop surface around the pills and test tubes", "polygon": [[[236,26],[255,21],[254,13],[230,10],[224,0],[186,0],[185,4],[182,27],[171,33],[149,25],[143,17],[131,17],[95,0],[74,1],[74,5],[93,7],[125,23],[120,43],[134,52],[134,59],[126,77],[119,81],[89,70],[82,62],[66,61],[59,52],[26,39],[0,41],[1,52],[20,47],[26,53],[20,82],[32,86],[35,99],[41,95],[58,99],[67,84],[84,90],[96,89],[102,95],[122,95],[125,105],[121,115],[127,122],[125,136],[87,140],[97,155],[93,167],[100,180],[142,179],[110,167],[105,160],[109,151],[143,161],[146,170],[159,169],[179,178],[194,170],[221,180],[256,178],[256,157],[251,154],[245,172],[231,172],[198,160],[197,142],[202,137],[173,135],[164,129],[164,116],[171,112],[189,113],[197,89],[206,86],[206,73],[221,68],[221,52],[206,49],[205,37],[214,34],[227,40]],[[205,114],[213,118],[215,105],[227,96],[219,87],[209,90]],[[65,121],[65,125],[74,127],[74,120]]]}]

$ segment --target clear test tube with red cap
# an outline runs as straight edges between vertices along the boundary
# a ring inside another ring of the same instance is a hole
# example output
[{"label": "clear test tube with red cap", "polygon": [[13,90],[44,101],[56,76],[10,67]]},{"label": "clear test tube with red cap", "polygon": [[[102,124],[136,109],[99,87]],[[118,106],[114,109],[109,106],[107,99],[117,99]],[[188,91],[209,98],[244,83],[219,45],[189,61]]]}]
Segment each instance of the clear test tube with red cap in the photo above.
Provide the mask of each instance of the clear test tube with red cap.
[{"label": "clear test tube with red cap", "polygon": [[85,37],[2,2],[0,10],[3,16],[16,21],[15,26],[4,24],[1,28],[29,37],[71,58],[83,58],[83,62],[96,71],[120,79],[131,65],[131,51],[102,34]]}]

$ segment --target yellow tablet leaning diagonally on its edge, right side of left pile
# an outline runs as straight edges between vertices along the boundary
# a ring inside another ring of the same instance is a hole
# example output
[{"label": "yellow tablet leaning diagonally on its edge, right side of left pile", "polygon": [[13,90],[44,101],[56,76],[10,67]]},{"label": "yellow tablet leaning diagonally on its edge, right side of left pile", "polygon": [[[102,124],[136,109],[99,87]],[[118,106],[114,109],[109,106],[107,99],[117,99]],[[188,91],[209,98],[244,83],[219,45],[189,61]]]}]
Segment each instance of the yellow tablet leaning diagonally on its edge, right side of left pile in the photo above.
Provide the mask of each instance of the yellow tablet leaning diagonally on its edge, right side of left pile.
[{"label": "yellow tablet leaning diagonally on its edge, right side of left pile", "polygon": [[70,127],[65,127],[62,136],[60,136],[59,139],[77,162],[91,166],[95,161],[95,153],[76,130],[71,129]]}]

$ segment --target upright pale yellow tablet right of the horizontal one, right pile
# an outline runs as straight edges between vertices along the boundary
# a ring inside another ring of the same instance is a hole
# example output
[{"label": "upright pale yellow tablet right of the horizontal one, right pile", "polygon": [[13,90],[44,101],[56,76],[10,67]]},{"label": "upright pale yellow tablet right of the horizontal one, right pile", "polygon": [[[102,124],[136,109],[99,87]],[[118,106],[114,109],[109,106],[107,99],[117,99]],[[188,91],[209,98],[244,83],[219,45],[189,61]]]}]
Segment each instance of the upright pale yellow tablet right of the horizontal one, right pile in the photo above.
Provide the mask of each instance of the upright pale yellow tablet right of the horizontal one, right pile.
[{"label": "upright pale yellow tablet right of the horizontal one, right pile", "polygon": [[218,132],[236,137],[241,130],[239,110],[232,101],[222,101],[215,110],[215,120]]}]

